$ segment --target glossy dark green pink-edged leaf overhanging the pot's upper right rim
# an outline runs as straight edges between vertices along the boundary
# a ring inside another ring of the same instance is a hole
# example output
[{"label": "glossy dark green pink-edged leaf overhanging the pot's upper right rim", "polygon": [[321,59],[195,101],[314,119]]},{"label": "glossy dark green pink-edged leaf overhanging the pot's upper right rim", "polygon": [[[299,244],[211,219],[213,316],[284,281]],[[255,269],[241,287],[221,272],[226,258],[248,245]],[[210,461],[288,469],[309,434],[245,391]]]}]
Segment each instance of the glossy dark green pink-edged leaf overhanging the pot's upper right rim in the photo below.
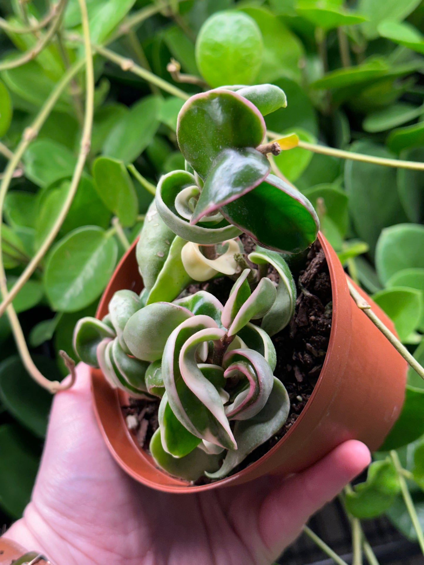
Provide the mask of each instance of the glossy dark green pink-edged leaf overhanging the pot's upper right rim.
[{"label": "glossy dark green pink-edged leaf overhanging the pot's upper right rim", "polygon": [[220,210],[228,221],[267,249],[300,253],[317,238],[318,216],[309,200],[274,175]]}]

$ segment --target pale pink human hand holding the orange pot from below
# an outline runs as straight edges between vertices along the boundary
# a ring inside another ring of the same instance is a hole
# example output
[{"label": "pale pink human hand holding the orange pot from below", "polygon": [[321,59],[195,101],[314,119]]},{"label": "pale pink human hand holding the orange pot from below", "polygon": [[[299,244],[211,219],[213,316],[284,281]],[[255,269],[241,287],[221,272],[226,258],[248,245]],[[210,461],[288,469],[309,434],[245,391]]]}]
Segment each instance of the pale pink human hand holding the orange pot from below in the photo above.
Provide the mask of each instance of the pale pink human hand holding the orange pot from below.
[{"label": "pale pink human hand holding the orange pot from below", "polygon": [[80,363],[76,384],[54,398],[31,502],[5,537],[58,565],[269,565],[369,461],[367,447],[351,440],[288,479],[156,492],[111,457]]}]

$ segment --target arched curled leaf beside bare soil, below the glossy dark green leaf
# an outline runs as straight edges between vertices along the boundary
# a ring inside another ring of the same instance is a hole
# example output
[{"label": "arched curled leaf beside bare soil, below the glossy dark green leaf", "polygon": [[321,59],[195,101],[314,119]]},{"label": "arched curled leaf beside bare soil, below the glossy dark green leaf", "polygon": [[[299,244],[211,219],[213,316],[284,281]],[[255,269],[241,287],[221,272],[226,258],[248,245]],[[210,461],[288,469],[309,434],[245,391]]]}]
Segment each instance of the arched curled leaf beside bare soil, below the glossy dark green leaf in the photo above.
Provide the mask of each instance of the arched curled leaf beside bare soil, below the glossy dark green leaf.
[{"label": "arched curled leaf beside bare soil, below the glossy dark green leaf", "polygon": [[296,283],[288,264],[276,251],[258,246],[248,258],[256,264],[271,263],[279,275],[275,302],[269,312],[263,316],[261,323],[261,328],[273,336],[285,328],[292,319],[296,306]]}]

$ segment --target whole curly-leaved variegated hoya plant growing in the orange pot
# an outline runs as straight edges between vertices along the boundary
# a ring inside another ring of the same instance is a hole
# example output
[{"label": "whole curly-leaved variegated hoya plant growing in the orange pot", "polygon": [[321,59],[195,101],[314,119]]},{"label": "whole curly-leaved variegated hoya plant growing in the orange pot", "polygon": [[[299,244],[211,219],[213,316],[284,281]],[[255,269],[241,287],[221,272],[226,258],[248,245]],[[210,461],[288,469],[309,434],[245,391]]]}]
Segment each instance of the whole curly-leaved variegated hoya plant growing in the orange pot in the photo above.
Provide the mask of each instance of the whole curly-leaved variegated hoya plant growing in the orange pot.
[{"label": "whole curly-leaved variegated hoya plant growing in the orange pot", "polygon": [[[318,219],[269,173],[262,115],[282,106],[272,85],[210,90],[185,103],[177,134],[187,170],[159,180],[137,244],[144,289],[119,290],[105,318],[75,328],[77,355],[111,386],[161,399],[150,453],[182,479],[227,476],[288,416],[271,337],[295,309],[284,254],[313,243]],[[243,232],[257,243],[249,254]],[[223,276],[233,281],[225,304],[187,290]]]}]

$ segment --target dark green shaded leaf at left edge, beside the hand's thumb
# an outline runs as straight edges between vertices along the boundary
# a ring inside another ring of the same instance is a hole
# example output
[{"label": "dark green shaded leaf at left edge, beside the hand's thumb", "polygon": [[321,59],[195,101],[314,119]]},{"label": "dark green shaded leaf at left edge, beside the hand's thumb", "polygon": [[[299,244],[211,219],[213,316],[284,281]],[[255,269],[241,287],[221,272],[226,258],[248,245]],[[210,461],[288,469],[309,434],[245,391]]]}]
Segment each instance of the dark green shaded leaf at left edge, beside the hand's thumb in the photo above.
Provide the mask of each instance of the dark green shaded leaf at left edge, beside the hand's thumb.
[{"label": "dark green shaded leaf at left edge, beside the hand's thumb", "polygon": [[[34,356],[37,368],[50,380],[61,380],[52,359]],[[0,399],[20,424],[37,437],[44,437],[49,420],[52,396],[38,385],[25,370],[18,355],[0,364]]]}]

